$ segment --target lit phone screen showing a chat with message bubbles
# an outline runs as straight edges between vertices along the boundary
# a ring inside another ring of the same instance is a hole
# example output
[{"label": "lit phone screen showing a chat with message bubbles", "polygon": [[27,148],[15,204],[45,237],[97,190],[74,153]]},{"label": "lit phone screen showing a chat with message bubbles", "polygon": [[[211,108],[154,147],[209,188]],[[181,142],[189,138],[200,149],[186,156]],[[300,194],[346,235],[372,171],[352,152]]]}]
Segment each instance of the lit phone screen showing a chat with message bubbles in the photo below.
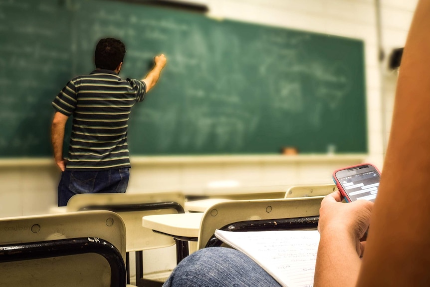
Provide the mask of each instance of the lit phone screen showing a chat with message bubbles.
[{"label": "lit phone screen showing a chat with message bubbles", "polygon": [[375,201],[380,181],[380,176],[377,171],[371,170],[348,175],[338,178],[338,180],[351,201],[360,199]]}]

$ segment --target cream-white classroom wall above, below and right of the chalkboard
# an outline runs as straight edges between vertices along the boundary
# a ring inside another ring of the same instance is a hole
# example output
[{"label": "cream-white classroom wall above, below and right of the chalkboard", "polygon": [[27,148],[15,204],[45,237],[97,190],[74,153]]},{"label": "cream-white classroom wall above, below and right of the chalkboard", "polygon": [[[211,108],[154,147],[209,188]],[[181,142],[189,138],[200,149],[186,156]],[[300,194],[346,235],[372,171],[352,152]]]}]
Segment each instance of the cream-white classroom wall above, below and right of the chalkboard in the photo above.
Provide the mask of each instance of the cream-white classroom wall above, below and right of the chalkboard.
[{"label": "cream-white classroom wall above, below and right of the chalkboard", "polygon": [[[201,1],[202,2],[202,1]],[[188,158],[159,162],[133,159],[129,192],[206,190],[211,181],[242,186],[330,182],[334,168],[371,161],[382,168],[396,76],[378,61],[374,0],[206,0],[211,16],[362,39],[365,43],[369,154],[337,158]],[[417,0],[381,0],[386,54],[405,44]],[[53,95],[54,96],[54,95]],[[281,157],[281,156],[280,156]],[[0,161],[0,217],[48,212],[56,203],[59,174],[49,159]]]}]

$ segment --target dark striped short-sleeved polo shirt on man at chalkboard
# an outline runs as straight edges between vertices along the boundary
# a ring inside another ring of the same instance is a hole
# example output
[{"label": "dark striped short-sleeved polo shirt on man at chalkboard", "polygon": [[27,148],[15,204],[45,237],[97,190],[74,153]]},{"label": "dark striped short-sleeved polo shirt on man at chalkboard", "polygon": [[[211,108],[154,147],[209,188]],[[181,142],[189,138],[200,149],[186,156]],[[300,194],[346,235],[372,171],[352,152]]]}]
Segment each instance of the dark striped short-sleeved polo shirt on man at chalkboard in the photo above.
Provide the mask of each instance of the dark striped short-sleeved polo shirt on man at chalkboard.
[{"label": "dark striped short-sleeved polo shirt on man at chalkboard", "polygon": [[70,80],[52,102],[58,112],[73,115],[67,170],[130,167],[128,119],[145,92],[143,81],[122,80],[111,70]]}]

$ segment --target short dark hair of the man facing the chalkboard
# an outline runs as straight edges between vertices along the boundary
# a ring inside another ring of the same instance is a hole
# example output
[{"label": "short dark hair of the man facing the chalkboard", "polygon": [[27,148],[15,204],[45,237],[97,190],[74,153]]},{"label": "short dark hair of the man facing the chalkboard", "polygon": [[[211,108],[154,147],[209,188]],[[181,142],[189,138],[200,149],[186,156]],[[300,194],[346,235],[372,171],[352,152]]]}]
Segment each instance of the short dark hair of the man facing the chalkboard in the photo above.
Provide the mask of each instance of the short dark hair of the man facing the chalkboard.
[{"label": "short dark hair of the man facing the chalkboard", "polygon": [[94,52],[94,63],[98,69],[114,71],[124,60],[125,45],[114,38],[101,39]]}]

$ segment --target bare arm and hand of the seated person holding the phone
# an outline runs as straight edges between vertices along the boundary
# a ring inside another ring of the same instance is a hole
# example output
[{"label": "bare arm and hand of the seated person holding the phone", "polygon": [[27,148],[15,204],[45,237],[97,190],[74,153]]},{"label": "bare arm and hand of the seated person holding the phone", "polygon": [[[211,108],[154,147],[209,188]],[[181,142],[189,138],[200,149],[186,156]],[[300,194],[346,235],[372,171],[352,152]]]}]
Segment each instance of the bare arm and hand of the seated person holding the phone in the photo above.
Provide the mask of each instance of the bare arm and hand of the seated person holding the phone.
[{"label": "bare arm and hand of the seated person holding the phone", "polygon": [[[354,217],[364,214],[365,206],[359,207],[359,201],[341,206],[327,197],[320,210],[315,287],[428,286],[430,282],[428,27],[430,1],[420,0],[403,53],[390,141],[363,260],[357,261],[357,239],[348,223],[360,222]],[[359,214],[354,214],[356,207]],[[361,231],[356,227],[356,234]]]}]

